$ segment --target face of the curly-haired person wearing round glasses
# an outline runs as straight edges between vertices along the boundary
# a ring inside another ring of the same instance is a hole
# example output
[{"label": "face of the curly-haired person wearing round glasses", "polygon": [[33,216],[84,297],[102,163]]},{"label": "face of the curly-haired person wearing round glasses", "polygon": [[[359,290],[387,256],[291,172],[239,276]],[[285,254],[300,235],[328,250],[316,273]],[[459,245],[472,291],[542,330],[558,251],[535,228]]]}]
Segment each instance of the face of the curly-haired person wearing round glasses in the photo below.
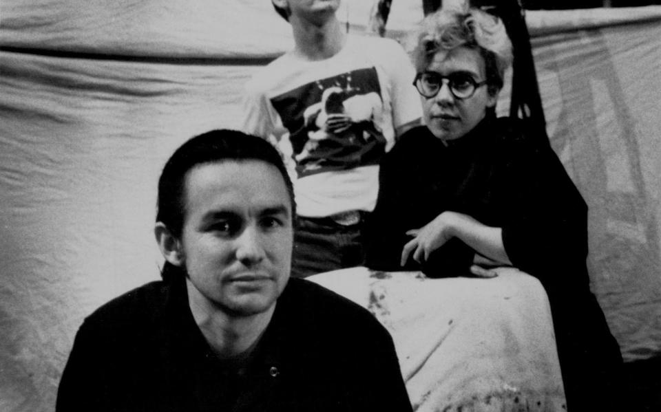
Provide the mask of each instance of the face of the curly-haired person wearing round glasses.
[{"label": "face of the curly-haired person wearing round glasses", "polygon": [[[478,50],[467,47],[437,52],[426,70],[441,76],[465,72],[476,82],[485,80],[484,59]],[[487,85],[482,85],[469,98],[458,99],[444,84],[436,96],[421,96],[421,99],[423,119],[430,131],[441,140],[454,140],[463,137],[484,118],[487,107],[496,105],[497,96],[490,96]]]}]

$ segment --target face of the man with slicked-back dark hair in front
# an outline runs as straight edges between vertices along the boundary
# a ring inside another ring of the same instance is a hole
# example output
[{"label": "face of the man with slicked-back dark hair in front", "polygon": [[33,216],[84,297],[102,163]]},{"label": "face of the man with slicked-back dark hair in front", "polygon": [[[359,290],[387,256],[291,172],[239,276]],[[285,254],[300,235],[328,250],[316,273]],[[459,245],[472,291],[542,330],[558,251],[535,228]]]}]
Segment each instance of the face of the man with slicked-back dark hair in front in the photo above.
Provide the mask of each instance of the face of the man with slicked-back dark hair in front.
[{"label": "face of the man with slicked-back dark hair in front", "polygon": [[266,312],[291,269],[292,204],[275,166],[202,164],[186,176],[181,235],[191,304],[230,316]]}]

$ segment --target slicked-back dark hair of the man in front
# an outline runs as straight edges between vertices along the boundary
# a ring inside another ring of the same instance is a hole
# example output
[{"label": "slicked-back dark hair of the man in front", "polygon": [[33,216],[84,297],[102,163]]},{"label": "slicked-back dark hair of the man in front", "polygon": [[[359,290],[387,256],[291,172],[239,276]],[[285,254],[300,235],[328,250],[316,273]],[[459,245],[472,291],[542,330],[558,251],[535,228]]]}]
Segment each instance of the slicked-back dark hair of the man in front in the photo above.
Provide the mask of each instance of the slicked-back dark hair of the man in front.
[{"label": "slicked-back dark hair of the man in front", "polygon": [[172,235],[180,237],[185,219],[185,179],[188,171],[200,164],[231,160],[260,160],[280,171],[291,201],[292,219],[296,204],[294,191],[280,153],[266,140],[235,130],[212,130],[197,135],[177,149],[169,158],[158,180],[156,221],[162,222]]}]

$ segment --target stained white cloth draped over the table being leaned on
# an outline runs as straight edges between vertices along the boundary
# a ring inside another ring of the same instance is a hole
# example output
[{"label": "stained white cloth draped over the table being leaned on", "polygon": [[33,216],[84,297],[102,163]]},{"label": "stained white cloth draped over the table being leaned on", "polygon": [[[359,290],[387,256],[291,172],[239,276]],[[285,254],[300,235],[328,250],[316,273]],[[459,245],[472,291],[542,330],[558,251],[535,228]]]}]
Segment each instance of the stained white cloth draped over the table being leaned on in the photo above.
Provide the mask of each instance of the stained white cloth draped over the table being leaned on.
[{"label": "stained white cloth draped over the table being leaned on", "polygon": [[416,411],[564,411],[553,323],[539,281],[428,279],[350,268],[308,277],[390,331]]}]

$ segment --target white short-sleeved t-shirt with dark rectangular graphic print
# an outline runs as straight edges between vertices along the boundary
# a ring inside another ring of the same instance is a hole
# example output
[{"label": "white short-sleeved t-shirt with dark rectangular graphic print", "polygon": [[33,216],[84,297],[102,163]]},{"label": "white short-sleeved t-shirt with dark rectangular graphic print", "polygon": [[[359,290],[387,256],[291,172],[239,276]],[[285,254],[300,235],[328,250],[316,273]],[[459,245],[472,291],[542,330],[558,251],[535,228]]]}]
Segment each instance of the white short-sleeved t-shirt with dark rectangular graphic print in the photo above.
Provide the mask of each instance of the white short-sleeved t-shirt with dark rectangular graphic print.
[{"label": "white short-sleeved t-shirt with dark rectangular graphic print", "polygon": [[414,76],[397,42],[348,36],[331,58],[285,54],[246,85],[242,129],[284,154],[299,215],[374,208],[395,128],[421,116]]}]

